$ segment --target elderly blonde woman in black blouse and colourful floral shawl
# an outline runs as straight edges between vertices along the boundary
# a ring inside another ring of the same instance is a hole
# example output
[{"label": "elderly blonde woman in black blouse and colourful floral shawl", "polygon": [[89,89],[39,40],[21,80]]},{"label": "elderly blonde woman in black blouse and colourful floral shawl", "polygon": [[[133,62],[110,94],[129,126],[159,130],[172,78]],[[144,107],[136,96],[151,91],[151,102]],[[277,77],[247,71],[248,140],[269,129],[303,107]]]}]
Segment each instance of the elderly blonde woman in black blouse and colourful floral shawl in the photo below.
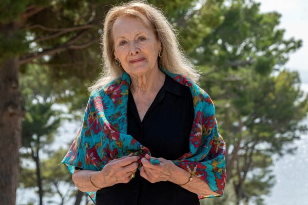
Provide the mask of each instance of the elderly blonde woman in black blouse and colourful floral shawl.
[{"label": "elderly blonde woman in black blouse and colourful floral shawl", "polygon": [[225,144],[174,29],[144,2],[113,7],[104,72],[62,163],[96,204],[200,204],[222,196]]}]

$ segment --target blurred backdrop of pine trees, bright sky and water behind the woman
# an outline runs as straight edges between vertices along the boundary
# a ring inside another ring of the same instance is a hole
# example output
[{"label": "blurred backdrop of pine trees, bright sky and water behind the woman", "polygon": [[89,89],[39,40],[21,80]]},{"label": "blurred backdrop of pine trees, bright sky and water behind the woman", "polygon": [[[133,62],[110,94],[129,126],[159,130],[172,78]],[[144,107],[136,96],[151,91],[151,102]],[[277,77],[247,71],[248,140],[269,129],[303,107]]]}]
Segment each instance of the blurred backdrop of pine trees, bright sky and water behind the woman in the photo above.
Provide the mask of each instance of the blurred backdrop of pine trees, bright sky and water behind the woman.
[{"label": "blurred backdrop of pine trees, bright sky and water behind the woman", "polygon": [[[307,204],[308,2],[148,2],[202,71],[226,141],[225,195],[201,204]],[[9,109],[0,109],[0,190],[8,204],[91,203],[60,162],[102,70],[99,38],[114,4],[1,1],[0,107]]]}]

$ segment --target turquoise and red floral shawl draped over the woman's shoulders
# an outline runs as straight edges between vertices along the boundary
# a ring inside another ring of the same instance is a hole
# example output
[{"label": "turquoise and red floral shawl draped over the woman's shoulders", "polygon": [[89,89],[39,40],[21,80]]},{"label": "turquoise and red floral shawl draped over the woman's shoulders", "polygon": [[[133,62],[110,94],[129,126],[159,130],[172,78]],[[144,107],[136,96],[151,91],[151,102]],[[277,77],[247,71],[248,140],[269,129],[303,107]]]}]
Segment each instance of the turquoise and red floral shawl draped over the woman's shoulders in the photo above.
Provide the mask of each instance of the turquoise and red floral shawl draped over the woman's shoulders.
[{"label": "turquoise and red floral shawl draped over the woman's shoulders", "polygon": [[[199,195],[199,199],[222,196],[226,181],[225,143],[218,131],[215,107],[208,94],[189,78],[161,70],[179,84],[188,86],[195,110],[189,136],[190,151],[177,160],[176,166],[205,181],[218,195]],[[75,167],[100,171],[108,161],[134,153],[141,158],[150,150],[127,133],[127,100],[130,77],[124,72],[101,90],[90,94],[83,125],[62,163],[72,174]],[[87,192],[95,203],[96,192]]]}]

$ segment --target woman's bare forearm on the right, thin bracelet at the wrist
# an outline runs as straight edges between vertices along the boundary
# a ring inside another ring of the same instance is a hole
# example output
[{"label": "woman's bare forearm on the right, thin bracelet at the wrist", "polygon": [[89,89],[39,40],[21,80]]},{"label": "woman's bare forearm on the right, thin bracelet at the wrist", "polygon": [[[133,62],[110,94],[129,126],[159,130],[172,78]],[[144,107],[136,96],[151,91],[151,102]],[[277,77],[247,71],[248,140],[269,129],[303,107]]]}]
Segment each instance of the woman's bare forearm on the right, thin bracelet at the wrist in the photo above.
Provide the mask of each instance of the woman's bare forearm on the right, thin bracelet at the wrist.
[{"label": "woman's bare forearm on the right, thin bracelet at the wrist", "polygon": [[[172,175],[169,181],[176,183],[177,185],[182,185],[183,183],[186,183],[190,176],[189,172],[187,172],[182,168],[177,167],[176,165],[172,166],[171,173]],[[192,181],[186,183],[186,185],[183,185],[181,187],[199,195],[215,195],[215,196],[218,195],[217,193],[213,192],[209,188],[207,183],[202,179],[200,179],[199,177],[192,175],[192,178],[193,178]]]}]

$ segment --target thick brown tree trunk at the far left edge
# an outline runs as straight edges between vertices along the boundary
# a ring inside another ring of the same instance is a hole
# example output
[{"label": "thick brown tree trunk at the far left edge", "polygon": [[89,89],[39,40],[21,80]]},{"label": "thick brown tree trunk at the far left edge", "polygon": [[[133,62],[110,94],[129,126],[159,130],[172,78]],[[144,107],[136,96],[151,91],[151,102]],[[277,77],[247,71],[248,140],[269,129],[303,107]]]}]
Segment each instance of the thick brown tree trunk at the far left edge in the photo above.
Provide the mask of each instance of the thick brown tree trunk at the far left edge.
[{"label": "thick brown tree trunk at the far left edge", "polygon": [[14,205],[18,181],[23,109],[18,88],[18,60],[0,64],[0,199]]}]

